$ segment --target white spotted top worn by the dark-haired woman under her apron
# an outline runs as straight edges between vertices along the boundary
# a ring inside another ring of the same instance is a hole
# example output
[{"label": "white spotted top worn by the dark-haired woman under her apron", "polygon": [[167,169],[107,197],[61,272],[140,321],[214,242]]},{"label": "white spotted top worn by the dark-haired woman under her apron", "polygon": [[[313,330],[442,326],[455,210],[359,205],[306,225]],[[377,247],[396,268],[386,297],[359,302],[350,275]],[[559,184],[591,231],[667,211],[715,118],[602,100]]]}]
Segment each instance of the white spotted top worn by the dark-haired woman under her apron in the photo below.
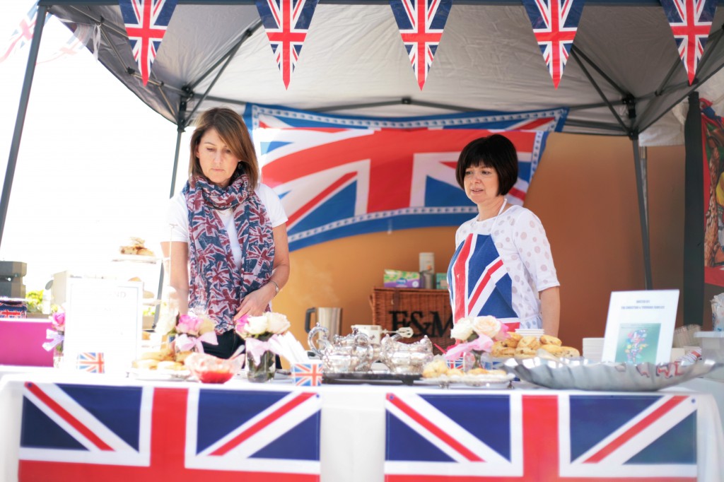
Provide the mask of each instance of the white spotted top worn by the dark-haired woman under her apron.
[{"label": "white spotted top worn by the dark-haired woman under her apron", "polygon": [[460,225],[455,233],[455,247],[471,233],[492,236],[513,282],[513,310],[518,313],[521,328],[541,328],[538,293],[560,283],[540,219],[522,206],[510,206],[497,219],[476,218]]}]

